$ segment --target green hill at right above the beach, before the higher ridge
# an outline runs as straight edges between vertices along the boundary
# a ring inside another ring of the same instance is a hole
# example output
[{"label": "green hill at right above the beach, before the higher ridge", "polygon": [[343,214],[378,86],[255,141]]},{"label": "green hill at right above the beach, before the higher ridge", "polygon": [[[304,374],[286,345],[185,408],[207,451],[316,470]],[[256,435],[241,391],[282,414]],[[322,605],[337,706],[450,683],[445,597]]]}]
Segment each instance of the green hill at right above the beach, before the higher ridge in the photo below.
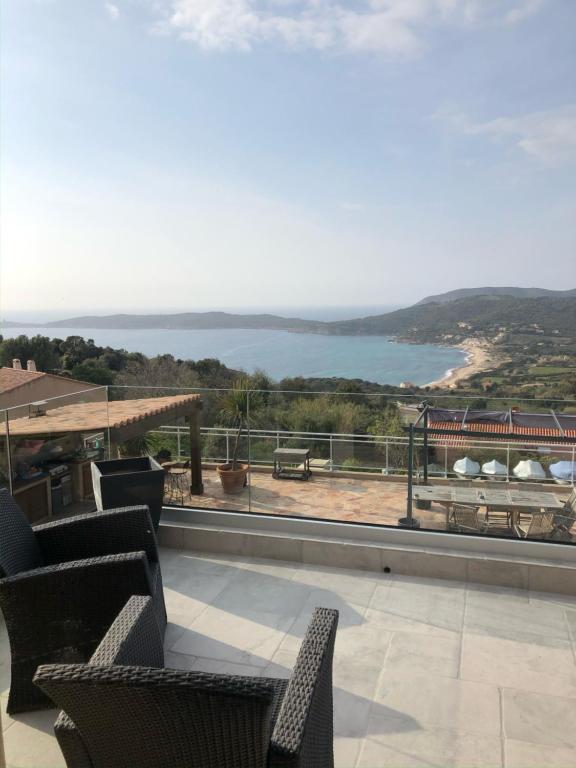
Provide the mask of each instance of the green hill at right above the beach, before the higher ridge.
[{"label": "green hill at right above the beach, before the higher ridge", "polygon": [[416,304],[386,315],[329,323],[326,330],[352,336],[400,336],[413,341],[437,341],[448,334],[460,338],[494,336],[504,330],[574,337],[576,296],[563,299],[471,296],[441,304]]}]

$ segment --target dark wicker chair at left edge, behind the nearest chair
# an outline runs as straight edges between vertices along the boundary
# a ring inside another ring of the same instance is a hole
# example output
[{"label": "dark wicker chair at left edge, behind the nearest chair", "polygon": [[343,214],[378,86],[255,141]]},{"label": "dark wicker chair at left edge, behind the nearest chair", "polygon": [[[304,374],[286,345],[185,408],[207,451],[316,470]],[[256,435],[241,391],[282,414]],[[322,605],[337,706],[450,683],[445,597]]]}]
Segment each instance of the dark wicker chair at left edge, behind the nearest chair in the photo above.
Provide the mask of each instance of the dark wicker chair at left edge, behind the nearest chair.
[{"label": "dark wicker chair at left edge, behind the nearest chair", "polygon": [[0,608],[10,639],[8,712],[52,706],[32,683],[39,664],[90,658],[126,600],[152,595],[166,624],[156,537],[147,507],[32,528],[0,489]]}]

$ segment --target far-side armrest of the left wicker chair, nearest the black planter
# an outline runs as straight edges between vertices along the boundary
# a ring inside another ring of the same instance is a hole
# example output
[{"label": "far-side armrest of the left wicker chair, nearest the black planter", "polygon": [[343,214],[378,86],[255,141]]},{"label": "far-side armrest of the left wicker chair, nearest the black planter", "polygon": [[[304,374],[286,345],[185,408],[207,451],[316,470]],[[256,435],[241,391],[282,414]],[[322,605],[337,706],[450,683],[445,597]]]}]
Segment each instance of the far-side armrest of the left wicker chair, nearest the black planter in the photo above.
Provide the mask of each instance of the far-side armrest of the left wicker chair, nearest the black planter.
[{"label": "far-side armrest of the left wicker chair, nearest the black planter", "polygon": [[158,562],[158,545],[146,506],[91,512],[37,525],[34,533],[47,564],[144,551]]}]

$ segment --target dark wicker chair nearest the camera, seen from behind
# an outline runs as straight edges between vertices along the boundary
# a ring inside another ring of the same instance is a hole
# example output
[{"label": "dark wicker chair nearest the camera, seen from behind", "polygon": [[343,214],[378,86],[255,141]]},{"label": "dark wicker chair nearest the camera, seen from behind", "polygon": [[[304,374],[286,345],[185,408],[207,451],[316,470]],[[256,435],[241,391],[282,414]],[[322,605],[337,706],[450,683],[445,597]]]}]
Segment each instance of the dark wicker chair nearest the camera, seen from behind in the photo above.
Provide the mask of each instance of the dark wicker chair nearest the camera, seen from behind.
[{"label": "dark wicker chair nearest the camera, seen from behind", "polygon": [[337,611],[315,609],[289,680],[155,668],[154,623],[133,597],[88,664],[38,668],[68,768],[333,768]]}]

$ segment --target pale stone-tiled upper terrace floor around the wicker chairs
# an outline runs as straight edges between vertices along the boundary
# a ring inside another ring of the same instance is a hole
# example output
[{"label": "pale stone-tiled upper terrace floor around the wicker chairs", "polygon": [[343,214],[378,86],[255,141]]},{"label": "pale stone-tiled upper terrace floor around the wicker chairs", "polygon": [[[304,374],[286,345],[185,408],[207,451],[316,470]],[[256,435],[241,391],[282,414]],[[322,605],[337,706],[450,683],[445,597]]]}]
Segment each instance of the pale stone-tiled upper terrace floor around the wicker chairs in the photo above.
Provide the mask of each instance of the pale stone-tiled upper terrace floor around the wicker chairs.
[{"label": "pale stone-tiled upper terrace floor around the wicker chairs", "polygon": [[[171,667],[288,676],[313,607],[340,611],[339,768],[576,764],[576,598],[180,550],[162,569]],[[4,707],[8,670],[1,632]],[[10,768],[63,766],[55,717],[3,709]]]}]

